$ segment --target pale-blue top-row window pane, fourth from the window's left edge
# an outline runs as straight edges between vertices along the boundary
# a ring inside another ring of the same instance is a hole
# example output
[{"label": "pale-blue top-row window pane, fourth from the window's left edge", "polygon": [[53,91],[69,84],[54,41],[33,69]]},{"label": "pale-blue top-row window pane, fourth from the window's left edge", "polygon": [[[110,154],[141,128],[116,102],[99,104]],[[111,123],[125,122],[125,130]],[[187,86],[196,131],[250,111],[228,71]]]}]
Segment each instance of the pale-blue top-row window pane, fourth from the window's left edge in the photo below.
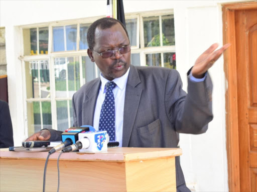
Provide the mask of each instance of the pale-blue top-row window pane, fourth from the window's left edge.
[{"label": "pale-blue top-row window pane, fourth from the window's left edge", "polygon": [[77,25],[67,25],[66,28],[66,47],[67,50],[77,49]]}]

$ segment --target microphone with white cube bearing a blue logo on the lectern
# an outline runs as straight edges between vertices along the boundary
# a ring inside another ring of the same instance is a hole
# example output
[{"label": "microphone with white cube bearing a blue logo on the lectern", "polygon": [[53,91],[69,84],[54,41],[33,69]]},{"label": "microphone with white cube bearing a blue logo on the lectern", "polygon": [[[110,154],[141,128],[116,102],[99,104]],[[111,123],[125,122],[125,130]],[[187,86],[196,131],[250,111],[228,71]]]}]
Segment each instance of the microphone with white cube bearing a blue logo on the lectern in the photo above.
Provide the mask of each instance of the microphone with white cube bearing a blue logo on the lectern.
[{"label": "microphone with white cube bearing a blue logo on the lectern", "polygon": [[79,150],[80,152],[102,152],[107,151],[109,135],[106,130],[89,131],[78,134],[79,140],[62,149],[63,152]]}]

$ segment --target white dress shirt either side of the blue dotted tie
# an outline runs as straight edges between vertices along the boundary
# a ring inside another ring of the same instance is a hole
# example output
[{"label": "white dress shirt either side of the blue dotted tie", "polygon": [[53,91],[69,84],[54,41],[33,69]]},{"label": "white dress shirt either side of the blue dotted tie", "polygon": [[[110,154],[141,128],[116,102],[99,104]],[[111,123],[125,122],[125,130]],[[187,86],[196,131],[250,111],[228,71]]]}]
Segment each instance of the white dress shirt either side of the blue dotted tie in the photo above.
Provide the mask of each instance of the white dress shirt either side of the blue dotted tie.
[{"label": "white dress shirt either side of the blue dotted tie", "polygon": [[[112,81],[116,83],[112,89],[114,102],[115,102],[115,140],[119,142],[119,146],[122,146],[122,129],[123,129],[123,112],[124,112],[124,101],[125,101],[125,92],[126,92],[126,82],[127,77],[129,77],[130,68],[126,71],[126,73],[118,78],[114,78]],[[105,98],[105,84],[109,80],[100,74],[101,78],[101,86],[99,90],[99,94],[96,100],[95,110],[94,110],[94,128],[95,130],[99,130],[99,118],[101,113],[102,103]]]}]

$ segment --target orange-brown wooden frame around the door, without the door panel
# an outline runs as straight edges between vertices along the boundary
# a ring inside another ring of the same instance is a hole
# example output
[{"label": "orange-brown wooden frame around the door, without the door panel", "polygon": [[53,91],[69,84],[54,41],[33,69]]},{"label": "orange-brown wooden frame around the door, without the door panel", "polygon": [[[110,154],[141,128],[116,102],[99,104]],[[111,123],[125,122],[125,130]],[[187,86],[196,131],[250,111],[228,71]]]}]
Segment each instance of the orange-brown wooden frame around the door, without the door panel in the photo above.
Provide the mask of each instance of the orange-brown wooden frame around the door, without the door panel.
[{"label": "orange-brown wooden frame around the door, without the door panel", "polygon": [[224,52],[226,78],[226,149],[229,191],[240,191],[239,137],[236,80],[235,10],[255,9],[256,1],[222,4],[223,43],[231,43]]}]

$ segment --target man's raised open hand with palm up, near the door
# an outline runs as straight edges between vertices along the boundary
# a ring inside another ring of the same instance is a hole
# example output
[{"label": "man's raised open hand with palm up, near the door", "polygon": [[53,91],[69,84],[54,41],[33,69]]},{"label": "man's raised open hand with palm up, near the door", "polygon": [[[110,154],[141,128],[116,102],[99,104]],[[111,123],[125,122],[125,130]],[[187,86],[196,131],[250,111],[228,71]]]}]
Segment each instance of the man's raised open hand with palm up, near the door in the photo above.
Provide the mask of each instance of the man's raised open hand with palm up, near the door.
[{"label": "man's raised open hand with palm up, near the door", "polygon": [[[195,61],[191,72],[196,78],[203,78],[204,73],[218,60],[221,54],[230,46],[230,43],[223,45],[218,50],[218,43],[212,44],[207,50],[205,50]],[[214,51],[215,50],[215,51]]]}]

